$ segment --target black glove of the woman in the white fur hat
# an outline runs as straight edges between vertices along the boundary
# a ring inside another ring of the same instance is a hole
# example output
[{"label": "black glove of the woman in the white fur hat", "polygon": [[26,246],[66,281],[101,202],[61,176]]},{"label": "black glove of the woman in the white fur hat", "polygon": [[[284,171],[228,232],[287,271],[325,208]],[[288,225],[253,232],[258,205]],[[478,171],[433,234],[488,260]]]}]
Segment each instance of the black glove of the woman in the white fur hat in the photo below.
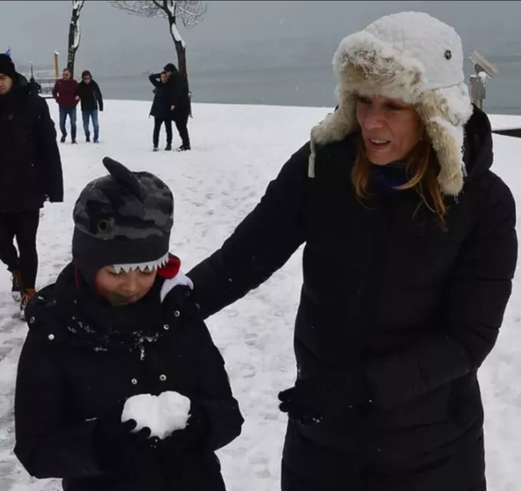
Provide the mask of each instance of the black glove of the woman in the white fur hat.
[{"label": "black glove of the woman in the white fur hat", "polygon": [[359,379],[352,374],[303,378],[279,394],[280,410],[302,424],[318,423],[326,416],[349,411],[365,400]]}]

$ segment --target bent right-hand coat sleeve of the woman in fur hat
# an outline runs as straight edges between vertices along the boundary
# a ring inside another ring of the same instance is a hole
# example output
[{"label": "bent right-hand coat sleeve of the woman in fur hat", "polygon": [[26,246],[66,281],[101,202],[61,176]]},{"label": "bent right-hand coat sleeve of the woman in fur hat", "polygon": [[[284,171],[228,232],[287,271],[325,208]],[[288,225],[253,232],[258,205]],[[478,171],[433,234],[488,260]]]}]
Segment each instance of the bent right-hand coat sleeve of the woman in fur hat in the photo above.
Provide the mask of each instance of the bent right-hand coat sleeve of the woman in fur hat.
[{"label": "bent right-hand coat sleeve of the woman in fur hat", "polygon": [[476,371],[495,345],[517,263],[516,208],[497,178],[440,303],[438,333],[369,363],[370,395],[392,408]]}]

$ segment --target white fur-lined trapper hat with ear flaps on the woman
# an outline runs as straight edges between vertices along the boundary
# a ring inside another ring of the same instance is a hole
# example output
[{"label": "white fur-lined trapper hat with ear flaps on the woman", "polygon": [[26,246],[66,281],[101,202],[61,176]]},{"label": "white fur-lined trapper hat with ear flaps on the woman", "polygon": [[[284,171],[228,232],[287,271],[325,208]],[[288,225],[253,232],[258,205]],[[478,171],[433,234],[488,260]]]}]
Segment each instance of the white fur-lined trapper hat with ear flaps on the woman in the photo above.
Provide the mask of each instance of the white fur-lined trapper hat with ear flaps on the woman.
[{"label": "white fur-lined trapper hat with ear flaps on the woman", "polygon": [[423,13],[382,17],[343,39],[333,58],[339,107],[312,129],[310,177],[316,145],[358,130],[356,95],[382,95],[415,105],[438,155],[442,193],[460,193],[464,125],[473,113],[463,59],[456,31]]}]

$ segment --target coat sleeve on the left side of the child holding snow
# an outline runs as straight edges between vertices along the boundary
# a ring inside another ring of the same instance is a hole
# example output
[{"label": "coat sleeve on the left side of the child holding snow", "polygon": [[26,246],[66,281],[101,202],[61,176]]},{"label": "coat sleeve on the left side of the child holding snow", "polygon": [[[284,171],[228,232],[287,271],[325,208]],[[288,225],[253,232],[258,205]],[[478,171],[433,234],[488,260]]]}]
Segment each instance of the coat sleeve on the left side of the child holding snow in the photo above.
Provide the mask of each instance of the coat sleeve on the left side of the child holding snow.
[{"label": "coat sleeve on the left side of the child holding snow", "polygon": [[34,477],[101,474],[91,443],[94,423],[70,423],[67,407],[67,389],[51,347],[29,332],[18,364],[14,451]]}]

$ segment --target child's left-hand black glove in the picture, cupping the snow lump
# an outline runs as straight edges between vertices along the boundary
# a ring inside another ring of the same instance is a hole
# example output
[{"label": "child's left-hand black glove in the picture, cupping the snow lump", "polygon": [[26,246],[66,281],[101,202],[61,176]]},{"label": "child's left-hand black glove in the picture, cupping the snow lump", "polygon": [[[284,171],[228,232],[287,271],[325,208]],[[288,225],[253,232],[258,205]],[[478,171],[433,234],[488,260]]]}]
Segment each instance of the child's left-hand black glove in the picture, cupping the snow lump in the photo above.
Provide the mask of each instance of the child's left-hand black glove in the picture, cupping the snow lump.
[{"label": "child's left-hand black glove in the picture, cupping the snow lump", "polygon": [[113,412],[97,420],[93,430],[93,444],[102,468],[121,469],[133,465],[146,453],[157,448],[158,438],[151,438],[151,429],[137,426],[134,420],[121,422],[123,404]]}]

